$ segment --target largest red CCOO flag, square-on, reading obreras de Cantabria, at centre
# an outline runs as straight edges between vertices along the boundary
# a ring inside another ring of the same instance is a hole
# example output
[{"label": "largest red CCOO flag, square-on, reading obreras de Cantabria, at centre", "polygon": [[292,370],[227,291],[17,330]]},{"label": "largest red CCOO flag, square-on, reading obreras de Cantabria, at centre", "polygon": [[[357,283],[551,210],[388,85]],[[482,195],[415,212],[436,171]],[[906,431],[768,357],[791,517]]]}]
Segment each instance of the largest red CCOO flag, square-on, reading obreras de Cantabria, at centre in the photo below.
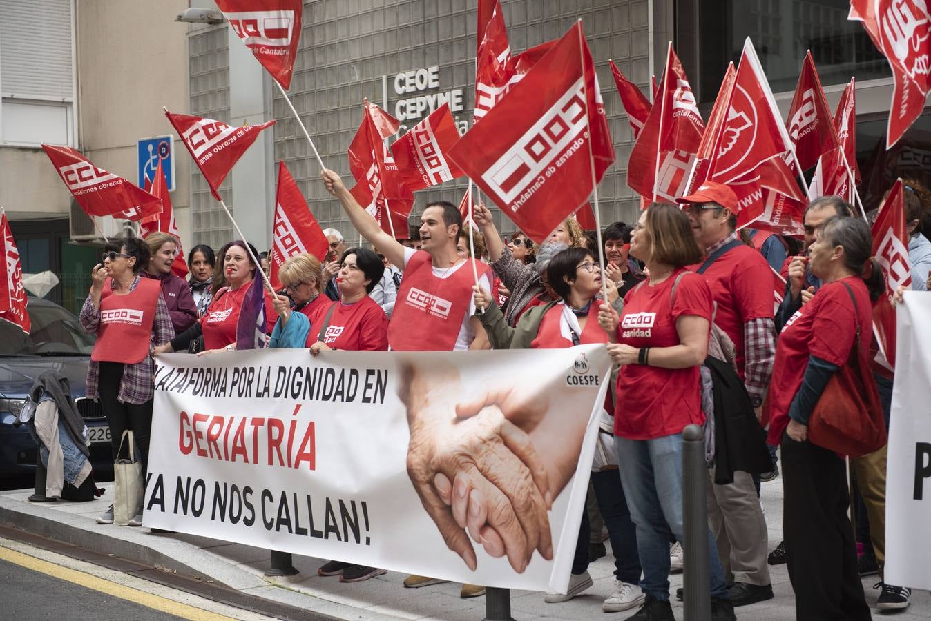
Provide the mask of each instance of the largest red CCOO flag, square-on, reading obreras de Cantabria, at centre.
[{"label": "largest red CCOO flag, square-on, reading obreras de Cantabria, at centre", "polygon": [[537,243],[582,205],[614,148],[581,22],[449,154]]}]

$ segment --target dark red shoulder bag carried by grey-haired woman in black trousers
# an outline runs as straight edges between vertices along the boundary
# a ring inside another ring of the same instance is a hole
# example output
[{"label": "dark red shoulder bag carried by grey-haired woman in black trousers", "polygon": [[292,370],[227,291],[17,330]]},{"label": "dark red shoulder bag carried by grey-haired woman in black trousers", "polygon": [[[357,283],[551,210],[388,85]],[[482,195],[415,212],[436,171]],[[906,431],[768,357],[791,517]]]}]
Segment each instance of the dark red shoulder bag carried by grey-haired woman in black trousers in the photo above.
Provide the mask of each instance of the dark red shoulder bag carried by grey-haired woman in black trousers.
[{"label": "dark red shoulder bag carried by grey-haired woman in black trousers", "polygon": [[885,419],[860,342],[857,298],[849,284],[843,286],[854,301],[857,333],[847,362],[830,377],[808,418],[808,440],[840,455],[859,457],[884,446]]}]

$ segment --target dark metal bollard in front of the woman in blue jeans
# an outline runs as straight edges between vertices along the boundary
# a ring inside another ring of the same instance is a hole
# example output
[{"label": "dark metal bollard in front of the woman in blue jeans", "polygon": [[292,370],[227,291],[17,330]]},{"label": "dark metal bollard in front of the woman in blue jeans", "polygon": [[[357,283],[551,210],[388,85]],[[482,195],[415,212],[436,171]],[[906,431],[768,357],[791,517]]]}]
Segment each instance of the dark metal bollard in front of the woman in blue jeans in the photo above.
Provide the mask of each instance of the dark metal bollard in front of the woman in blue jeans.
[{"label": "dark metal bollard in front of the woman in blue jeans", "polygon": [[682,429],[682,549],[685,552],[682,599],[685,621],[708,621],[711,618],[707,485],[705,431],[698,425],[689,425]]}]

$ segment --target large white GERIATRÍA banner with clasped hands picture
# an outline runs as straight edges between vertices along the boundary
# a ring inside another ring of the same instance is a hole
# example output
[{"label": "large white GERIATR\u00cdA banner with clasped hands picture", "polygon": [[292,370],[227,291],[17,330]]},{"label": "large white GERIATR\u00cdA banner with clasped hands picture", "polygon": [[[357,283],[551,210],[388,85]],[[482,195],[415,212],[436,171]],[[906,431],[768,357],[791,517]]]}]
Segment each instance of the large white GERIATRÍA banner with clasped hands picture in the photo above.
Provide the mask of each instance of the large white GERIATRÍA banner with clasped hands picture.
[{"label": "large white GERIATR\u00cdA banner with clasped hands picture", "polygon": [[158,361],[146,526],[565,592],[604,346]]}]

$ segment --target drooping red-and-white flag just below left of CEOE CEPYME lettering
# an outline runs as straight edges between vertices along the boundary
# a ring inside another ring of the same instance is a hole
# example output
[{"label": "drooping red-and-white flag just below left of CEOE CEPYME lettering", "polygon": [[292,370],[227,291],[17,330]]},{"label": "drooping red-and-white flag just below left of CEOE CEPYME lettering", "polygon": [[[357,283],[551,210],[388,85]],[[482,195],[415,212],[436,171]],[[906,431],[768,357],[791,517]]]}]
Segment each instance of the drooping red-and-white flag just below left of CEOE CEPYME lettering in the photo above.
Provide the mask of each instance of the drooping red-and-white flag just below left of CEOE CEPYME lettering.
[{"label": "drooping red-and-white flag just below left of CEOE CEPYME lettering", "polygon": [[[404,183],[385,139],[398,132],[398,119],[364,101],[362,123],[349,143],[349,170],[356,186],[349,192],[396,239],[408,236],[413,193]],[[390,218],[390,219],[389,219]]]}]

